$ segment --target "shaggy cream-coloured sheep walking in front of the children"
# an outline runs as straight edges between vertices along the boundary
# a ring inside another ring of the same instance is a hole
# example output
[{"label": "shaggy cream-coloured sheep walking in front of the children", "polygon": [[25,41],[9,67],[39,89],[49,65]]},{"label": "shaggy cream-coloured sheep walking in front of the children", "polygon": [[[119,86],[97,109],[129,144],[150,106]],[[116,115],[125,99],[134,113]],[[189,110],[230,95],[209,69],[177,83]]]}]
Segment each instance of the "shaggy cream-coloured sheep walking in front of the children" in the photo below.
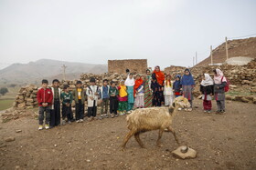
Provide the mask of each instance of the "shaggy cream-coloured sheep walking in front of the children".
[{"label": "shaggy cream-coloured sheep walking in front of the children", "polygon": [[176,115],[177,108],[190,107],[187,98],[183,96],[176,97],[173,104],[169,107],[151,107],[137,109],[131,115],[127,115],[127,127],[130,132],[124,137],[122,148],[124,150],[128,140],[134,135],[138,144],[144,148],[140,139],[140,134],[146,131],[159,129],[156,145],[160,146],[160,139],[165,129],[175,136],[176,143],[179,144],[174,129],[171,127],[172,120]]}]

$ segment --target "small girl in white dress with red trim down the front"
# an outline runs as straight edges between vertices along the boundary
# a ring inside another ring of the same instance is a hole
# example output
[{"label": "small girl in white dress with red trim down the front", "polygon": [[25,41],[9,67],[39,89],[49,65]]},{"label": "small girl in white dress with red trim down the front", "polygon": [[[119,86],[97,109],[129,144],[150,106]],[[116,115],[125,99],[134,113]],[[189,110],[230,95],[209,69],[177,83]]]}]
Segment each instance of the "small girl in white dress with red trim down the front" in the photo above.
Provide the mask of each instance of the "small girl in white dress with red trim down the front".
[{"label": "small girl in white dress with red trim down the front", "polygon": [[166,75],[164,84],[164,95],[165,95],[165,106],[173,104],[174,93],[173,93],[173,82],[171,81],[171,75]]}]

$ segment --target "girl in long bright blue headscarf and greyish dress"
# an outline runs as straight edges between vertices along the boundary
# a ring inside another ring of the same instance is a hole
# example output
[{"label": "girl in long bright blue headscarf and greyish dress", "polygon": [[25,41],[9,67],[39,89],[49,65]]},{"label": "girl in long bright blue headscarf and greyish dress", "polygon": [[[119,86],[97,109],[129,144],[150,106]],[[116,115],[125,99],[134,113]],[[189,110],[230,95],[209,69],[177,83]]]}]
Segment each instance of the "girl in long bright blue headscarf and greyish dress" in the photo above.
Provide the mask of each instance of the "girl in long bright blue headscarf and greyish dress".
[{"label": "girl in long bright blue headscarf and greyish dress", "polygon": [[190,103],[190,108],[185,109],[185,111],[192,111],[192,101],[194,99],[192,92],[194,90],[195,81],[188,68],[186,68],[184,72],[185,74],[182,76],[181,85],[182,85],[183,95],[184,97],[187,98],[187,100]]}]

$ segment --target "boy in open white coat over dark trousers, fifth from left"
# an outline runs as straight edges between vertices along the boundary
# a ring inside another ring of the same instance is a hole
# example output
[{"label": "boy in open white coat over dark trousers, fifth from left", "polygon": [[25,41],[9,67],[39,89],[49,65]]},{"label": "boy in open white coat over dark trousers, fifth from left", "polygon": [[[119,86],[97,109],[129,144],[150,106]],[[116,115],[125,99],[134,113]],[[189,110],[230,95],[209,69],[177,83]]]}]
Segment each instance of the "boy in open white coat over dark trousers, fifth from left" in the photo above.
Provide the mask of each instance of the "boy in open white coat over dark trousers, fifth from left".
[{"label": "boy in open white coat over dark trousers, fifth from left", "polygon": [[96,118],[97,115],[97,102],[99,96],[99,86],[96,85],[95,78],[91,78],[91,85],[88,86],[86,90],[86,95],[88,96],[88,117],[89,121]]}]

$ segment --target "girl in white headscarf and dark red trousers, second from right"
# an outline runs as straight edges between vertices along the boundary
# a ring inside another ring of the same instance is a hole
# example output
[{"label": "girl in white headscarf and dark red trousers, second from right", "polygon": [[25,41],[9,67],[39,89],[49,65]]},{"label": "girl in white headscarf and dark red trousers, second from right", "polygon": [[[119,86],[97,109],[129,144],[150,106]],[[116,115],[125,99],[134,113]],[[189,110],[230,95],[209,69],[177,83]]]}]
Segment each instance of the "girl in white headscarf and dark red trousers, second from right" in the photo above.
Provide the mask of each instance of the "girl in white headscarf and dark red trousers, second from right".
[{"label": "girl in white headscarf and dark red trousers, second from right", "polygon": [[213,80],[208,74],[204,74],[200,84],[200,92],[202,93],[204,112],[211,112],[211,95],[213,95]]}]

